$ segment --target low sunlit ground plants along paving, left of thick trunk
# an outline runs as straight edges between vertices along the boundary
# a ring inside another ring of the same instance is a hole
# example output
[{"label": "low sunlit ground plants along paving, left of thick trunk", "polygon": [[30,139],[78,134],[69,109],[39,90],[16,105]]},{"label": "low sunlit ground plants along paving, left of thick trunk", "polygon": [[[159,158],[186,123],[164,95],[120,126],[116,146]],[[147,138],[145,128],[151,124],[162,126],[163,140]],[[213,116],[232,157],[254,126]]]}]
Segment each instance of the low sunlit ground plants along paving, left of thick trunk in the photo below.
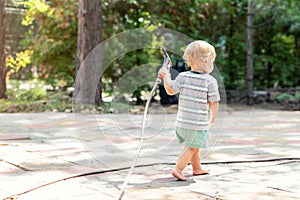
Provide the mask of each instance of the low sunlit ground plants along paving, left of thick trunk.
[{"label": "low sunlit ground plants along paving, left of thick trunk", "polygon": [[0,112],[72,112],[66,91],[47,91],[42,81],[8,81],[8,99],[0,100]]}]

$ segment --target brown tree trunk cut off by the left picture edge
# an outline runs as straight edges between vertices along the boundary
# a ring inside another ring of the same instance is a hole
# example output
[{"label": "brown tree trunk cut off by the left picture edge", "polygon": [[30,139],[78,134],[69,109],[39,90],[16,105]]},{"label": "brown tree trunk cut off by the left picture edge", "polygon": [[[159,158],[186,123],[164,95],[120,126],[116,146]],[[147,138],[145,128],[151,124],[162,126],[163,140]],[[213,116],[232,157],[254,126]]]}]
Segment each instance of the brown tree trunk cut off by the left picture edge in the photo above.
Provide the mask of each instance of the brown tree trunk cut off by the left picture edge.
[{"label": "brown tree trunk cut off by the left picture edge", "polygon": [[0,99],[6,98],[5,1],[0,1]]}]

